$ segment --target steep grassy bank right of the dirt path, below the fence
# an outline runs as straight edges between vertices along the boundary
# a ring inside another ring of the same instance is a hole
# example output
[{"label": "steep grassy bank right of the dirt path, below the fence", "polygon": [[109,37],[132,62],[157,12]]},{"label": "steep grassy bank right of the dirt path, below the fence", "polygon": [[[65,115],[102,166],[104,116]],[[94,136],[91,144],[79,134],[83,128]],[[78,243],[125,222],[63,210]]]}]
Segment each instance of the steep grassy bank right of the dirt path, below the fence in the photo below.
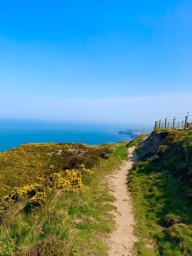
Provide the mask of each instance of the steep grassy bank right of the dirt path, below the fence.
[{"label": "steep grassy bank right of the dirt path, below the fence", "polygon": [[136,151],[128,188],[138,254],[192,255],[192,130],[156,130]]}]

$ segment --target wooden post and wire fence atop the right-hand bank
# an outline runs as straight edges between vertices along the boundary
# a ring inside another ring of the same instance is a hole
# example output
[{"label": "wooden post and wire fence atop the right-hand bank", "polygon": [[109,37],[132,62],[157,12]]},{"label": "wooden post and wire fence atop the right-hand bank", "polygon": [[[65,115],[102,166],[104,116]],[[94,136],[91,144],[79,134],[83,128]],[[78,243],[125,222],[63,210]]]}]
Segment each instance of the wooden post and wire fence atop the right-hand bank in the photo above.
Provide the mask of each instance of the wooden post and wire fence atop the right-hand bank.
[{"label": "wooden post and wire fence atop the right-hand bank", "polygon": [[158,121],[155,121],[154,130],[169,128],[173,130],[188,130],[192,128],[192,111],[172,117],[164,117]]}]

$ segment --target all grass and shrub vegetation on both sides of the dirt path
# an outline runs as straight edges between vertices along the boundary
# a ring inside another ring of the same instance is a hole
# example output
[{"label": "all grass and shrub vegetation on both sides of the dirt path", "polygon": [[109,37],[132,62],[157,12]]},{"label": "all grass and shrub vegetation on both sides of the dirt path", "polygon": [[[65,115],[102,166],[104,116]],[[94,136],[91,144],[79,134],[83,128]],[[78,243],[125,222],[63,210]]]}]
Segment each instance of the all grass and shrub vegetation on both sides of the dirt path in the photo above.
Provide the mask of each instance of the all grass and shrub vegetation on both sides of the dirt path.
[{"label": "all grass and shrub vegetation on both sides of the dirt path", "polygon": [[[136,146],[128,175],[141,256],[192,255],[192,130],[128,144],[29,144],[0,154],[0,256],[107,255],[114,228],[107,175]],[[22,177],[22,173],[25,179]]]}]

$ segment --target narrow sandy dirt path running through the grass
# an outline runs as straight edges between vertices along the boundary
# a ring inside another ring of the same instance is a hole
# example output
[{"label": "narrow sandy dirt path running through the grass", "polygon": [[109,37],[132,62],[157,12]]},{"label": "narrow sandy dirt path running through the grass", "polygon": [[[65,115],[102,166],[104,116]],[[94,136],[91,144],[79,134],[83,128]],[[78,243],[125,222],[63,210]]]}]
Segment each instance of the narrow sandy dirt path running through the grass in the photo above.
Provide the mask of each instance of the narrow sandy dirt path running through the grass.
[{"label": "narrow sandy dirt path running through the grass", "polygon": [[116,201],[112,203],[117,207],[118,213],[115,214],[116,229],[107,241],[109,245],[109,256],[133,256],[132,246],[137,238],[133,235],[134,217],[132,214],[131,196],[127,191],[127,171],[132,168],[136,162],[137,155],[134,147],[129,148],[130,161],[125,161],[121,165],[121,169],[115,171],[109,179],[112,184],[112,195]]}]

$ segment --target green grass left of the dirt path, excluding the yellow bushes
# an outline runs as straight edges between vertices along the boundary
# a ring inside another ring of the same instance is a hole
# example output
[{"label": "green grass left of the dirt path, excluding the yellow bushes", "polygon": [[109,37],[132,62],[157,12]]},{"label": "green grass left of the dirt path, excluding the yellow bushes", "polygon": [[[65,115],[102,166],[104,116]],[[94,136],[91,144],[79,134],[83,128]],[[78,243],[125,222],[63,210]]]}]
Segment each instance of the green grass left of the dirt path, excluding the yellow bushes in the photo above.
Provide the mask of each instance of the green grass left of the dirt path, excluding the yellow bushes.
[{"label": "green grass left of the dirt path, excluding the yellow bushes", "polygon": [[[27,210],[26,200],[13,204],[1,221],[0,256],[107,255],[105,238],[114,228],[115,207],[106,177],[127,159],[125,145],[107,144],[68,159],[66,165],[75,166],[95,159],[96,175],[82,178],[87,195],[55,189],[35,213]],[[101,153],[107,157],[99,157]]]}]

